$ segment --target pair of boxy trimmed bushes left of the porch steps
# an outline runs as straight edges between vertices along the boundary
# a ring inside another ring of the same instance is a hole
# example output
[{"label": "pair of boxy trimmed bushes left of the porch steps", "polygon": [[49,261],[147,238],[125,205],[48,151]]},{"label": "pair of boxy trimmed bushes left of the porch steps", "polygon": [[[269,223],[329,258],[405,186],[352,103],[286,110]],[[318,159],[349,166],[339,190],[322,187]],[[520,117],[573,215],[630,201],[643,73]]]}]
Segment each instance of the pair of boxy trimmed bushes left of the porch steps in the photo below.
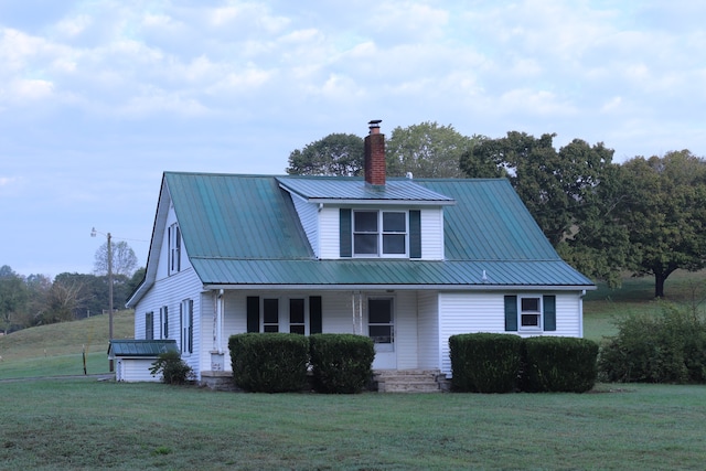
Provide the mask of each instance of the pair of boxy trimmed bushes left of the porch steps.
[{"label": "pair of boxy trimmed bushes left of the porch steps", "polygon": [[254,393],[302,390],[309,365],[317,392],[360,393],[375,357],[373,340],[353,334],[243,333],[228,347],[236,386]]}]

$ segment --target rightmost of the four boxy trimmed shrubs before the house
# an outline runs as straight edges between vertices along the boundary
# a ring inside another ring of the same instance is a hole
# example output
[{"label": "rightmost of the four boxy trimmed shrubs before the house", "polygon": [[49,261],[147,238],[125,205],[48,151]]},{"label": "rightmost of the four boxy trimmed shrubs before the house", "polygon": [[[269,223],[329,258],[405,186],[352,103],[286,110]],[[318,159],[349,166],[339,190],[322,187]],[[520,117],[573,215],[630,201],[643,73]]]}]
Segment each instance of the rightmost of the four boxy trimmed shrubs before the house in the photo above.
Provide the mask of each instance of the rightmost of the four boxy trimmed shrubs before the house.
[{"label": "rightmost of the four boxy trimmed shrubs before the house", "polygon": [[598,344],[587,339],[525,339],[522,388],[530,393],[585,393],[596,384],[597,356]]}]

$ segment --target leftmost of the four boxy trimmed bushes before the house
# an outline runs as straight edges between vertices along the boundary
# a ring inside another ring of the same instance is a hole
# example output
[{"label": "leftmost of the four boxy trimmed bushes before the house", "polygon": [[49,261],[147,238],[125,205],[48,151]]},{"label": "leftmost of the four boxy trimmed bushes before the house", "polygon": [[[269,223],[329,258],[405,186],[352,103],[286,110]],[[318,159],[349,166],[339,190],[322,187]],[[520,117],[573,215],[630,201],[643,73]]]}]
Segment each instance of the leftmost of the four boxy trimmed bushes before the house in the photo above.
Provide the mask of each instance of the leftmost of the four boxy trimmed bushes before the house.
[{"label": "leftmost of the four boxy trimmed bushes before the house", "polygon": [[242,333],[228,339],[236,386],[254,393],[301,390],[309,340],[296,333]]}]

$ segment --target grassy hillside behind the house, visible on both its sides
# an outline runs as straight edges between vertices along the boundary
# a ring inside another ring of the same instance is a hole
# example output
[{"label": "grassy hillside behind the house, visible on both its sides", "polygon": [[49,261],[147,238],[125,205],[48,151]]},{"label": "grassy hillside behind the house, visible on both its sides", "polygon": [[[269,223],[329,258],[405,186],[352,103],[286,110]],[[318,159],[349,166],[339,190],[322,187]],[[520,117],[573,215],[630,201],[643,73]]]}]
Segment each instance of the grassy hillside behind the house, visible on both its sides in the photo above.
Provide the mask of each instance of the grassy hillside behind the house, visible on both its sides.
[{"label": "grassy hillside behind the house, visible on both its sides", "polygon": [[[676,271],[666,281],[670,302],[704,311],[706,270]],[[631,313],[657,313],[654,279],[625,278],[620,289],[599,285],[586,295],[584,336],[600,341],[616,333],[614,320]],[[116,339],[133,336],[135,313],[120,311],[114,315]],[[87,352],[88,374],[108,373],[108,315],[96,315],[74,322],[42,325],[0,336],[0,379],[32,376],[83,375],[83,349]]]}]

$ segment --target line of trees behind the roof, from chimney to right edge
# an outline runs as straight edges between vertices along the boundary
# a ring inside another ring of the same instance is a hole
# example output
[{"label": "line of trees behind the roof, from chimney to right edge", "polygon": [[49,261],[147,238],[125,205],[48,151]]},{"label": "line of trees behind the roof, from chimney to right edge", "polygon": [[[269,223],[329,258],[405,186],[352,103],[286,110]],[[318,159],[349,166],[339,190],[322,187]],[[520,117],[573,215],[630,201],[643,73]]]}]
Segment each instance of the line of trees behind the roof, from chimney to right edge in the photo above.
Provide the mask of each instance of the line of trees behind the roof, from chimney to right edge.
[{"label": "line of trees behind the roof, from chimney to right edge", "polygon": [[[676,269],[706,267],[706,161],[688,150],[616,163],[603,142],[510,131],[467,137],[421,122],[393,129],[389,176],[506,178],[559,255],[587,276],[620,285],[653,276],[654,295]],[[289,156],[289,174],[362,175],[363,139],[332,133]]]}]

